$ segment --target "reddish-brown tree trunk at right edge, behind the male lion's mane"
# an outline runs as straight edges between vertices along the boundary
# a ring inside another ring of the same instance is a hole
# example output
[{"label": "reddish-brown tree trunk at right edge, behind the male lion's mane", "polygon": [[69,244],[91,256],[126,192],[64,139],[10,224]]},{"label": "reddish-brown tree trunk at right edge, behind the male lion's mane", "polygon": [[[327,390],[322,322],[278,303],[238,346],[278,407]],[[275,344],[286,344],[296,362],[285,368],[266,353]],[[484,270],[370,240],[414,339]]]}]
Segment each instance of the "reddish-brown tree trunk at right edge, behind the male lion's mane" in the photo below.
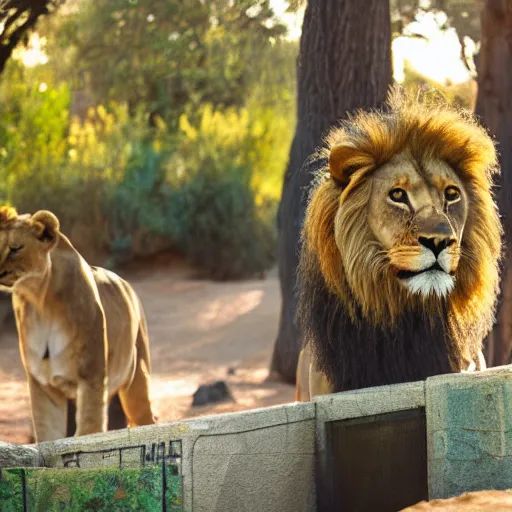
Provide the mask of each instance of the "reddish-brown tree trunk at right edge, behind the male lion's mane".
[{"label": "reddish-brown tree trunk at right edge, behind the male lion's mane", "polygon": [[488,366],[511,362],[512,349],[512,0],[487,0],[481,15],[478,98],[475,112],[498,142],[501,177],[498,206],[505,228],[497,322],[486,340]]}]

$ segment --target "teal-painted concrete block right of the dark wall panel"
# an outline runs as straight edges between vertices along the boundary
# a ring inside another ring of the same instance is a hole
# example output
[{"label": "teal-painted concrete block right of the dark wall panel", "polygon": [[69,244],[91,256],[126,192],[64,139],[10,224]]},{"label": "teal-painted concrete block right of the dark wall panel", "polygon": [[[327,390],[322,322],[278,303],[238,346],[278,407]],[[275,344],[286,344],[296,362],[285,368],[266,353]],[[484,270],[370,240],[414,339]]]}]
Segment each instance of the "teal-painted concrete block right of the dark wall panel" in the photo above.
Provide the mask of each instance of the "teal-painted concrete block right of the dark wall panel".
[{"label": "teal-painted concrete block right of the dark wall panel", "polygon": [[512,366],[426,382],[429,495],[512,488]]}]

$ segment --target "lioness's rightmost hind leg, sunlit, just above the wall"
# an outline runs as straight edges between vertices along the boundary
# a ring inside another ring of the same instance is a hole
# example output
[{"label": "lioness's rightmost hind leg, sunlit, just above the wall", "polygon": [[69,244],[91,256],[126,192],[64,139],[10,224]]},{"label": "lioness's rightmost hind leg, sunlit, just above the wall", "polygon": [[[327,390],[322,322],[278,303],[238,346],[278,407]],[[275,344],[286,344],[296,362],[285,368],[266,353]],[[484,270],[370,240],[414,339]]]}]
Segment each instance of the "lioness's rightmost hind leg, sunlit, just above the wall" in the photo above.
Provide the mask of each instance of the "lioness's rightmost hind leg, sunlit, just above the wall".
[{"label": "lioness's rightmost hind leg, sunlit, just above the wall", "polygon": [[149,372],[151,369],[149,346],[143,327],[139,329],[137,335],[135,375],[129,387],[119,390],[119,398],[130,427],[155,423],[149,396]]}]

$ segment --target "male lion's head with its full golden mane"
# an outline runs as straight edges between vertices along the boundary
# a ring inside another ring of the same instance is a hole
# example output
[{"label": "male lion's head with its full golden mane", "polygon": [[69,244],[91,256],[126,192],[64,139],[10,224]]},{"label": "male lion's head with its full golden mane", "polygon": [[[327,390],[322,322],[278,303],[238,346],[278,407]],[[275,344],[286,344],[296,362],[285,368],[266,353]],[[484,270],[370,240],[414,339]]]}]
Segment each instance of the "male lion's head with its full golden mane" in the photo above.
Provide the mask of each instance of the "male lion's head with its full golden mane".
[{"label": "male lion's head with its full golden mane", "polygon": [[319,267],[332,293],[381,321],[446,300],[490,318],[496,299],[494,144],[471,113],[432,100],[395,90],[386,111],[334,129],[306,212],[303,276]]}]

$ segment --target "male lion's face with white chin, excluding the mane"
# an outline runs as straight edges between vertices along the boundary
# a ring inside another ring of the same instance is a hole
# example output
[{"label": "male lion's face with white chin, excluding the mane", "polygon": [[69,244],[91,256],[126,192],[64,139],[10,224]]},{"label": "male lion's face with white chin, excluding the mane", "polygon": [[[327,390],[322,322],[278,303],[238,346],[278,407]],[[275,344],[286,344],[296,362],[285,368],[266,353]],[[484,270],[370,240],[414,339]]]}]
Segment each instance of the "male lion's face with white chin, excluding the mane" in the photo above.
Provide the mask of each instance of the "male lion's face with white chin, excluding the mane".
[{"label": "male lion's face with white chin, excluding the mane", "polygon": [[453,290],[468,215],[468,198],[441,160],[396,155],[370,177],[368,224],[387,252],[396,279],[411,293]]}]

